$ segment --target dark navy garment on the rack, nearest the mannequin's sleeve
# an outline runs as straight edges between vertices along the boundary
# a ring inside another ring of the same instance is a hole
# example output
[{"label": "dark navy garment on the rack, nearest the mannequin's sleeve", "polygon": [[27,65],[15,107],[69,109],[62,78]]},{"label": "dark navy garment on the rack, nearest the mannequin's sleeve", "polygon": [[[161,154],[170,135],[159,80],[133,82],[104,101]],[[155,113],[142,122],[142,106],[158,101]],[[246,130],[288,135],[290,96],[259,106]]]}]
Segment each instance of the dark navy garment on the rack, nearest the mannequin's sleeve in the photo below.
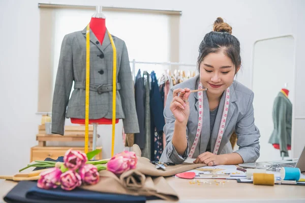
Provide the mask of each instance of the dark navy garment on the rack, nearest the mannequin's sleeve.
[{"label": "dark navy garment on the rack, nearest the mannequin's sleeve", "polygon": [[144,119],[145,119],[145,104],[144,104],[144,81],[141,76],[141,70],[138,71],[135,81],[135,101],[136,101],[136,111],[139,123],[139,133],[135,133],[134,142],[138,144],[141,150],[145,146],[145,132],[144,132]]}]

